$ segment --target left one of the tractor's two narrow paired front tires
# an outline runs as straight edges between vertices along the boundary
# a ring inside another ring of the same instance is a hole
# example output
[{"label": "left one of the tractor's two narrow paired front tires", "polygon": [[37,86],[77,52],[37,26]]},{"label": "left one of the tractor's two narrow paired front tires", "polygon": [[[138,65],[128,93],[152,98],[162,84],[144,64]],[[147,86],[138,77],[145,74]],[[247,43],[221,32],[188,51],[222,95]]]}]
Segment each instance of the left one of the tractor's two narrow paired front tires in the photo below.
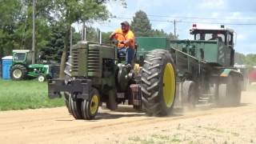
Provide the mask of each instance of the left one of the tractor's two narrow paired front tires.
[{"label": "left one of the tractor's two narrow paired front tires", "polygon": [[72,95],[70,94],[69,100],[70,112],[73,115],[73,117],[75,119],[82,119],[82,99],[76,98],[75,95],[72,97]]}]

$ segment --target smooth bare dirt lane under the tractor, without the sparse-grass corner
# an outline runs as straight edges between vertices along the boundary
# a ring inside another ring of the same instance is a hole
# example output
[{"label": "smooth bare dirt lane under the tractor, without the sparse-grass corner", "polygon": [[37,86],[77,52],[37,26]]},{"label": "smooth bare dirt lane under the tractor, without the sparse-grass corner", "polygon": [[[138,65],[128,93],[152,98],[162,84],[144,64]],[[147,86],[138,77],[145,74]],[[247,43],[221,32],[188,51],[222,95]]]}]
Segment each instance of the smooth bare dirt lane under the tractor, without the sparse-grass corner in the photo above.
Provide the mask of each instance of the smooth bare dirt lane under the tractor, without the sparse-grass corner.
[{"label": "smooth bare dirt lane under the tractor, without the sparse-grass corner", "polygon": [[102,114],[90,122],[74,120],[67,114],[65,107],[0,112],[0,143],[111,142],[117,137],[123,139],[129,135],[146,134],[156,129],[165,130],[166,126],[178,126],[180,122],[196,121],[199,118],[256,114],[254,94],[243,93],[246,104],[242,106],[201,107],[165,118],[146,117],[128,106],[122,106],[119,112],[100,110]]}]

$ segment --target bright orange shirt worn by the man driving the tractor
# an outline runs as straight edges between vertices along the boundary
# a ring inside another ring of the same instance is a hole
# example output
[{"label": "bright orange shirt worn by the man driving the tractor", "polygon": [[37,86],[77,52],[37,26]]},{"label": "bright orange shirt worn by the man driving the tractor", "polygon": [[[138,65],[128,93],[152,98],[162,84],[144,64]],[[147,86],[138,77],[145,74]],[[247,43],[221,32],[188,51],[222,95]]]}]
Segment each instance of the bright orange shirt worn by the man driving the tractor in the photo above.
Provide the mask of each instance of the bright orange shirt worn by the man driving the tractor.
[{"label": "bright orange shirt worn by the man driving the tractor", "polygon": [[123,33],[122,29],[118,28],[117,30],[114,30],[114,32],[115,32],[114,38],[116,38],[119,41],[118,48],[126,47],[124,44],[122,44],[120,42],[126,41],[128,39],[130,39],[130,43],[127,44],[127,45],[129,47],[131,47],[131,48],[134,48],[134,46],[135,46],[135,39],[134,39],[134,33],[131,30],[129,30],[126,33]]}]

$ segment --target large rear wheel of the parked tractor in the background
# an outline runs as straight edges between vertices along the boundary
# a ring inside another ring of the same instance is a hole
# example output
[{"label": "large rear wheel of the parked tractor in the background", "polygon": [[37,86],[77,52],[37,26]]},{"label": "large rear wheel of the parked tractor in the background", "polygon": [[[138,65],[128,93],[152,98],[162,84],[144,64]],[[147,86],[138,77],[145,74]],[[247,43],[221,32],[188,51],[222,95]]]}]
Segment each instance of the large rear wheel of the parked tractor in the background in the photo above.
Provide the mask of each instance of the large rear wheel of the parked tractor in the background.
[{"label": "large rear wheel of the parked tractor in the background", "polygon": [[26,78],[26,66],[17,64],[11,67],[10,69],[10,78],[14,81],[20,81]]}]

